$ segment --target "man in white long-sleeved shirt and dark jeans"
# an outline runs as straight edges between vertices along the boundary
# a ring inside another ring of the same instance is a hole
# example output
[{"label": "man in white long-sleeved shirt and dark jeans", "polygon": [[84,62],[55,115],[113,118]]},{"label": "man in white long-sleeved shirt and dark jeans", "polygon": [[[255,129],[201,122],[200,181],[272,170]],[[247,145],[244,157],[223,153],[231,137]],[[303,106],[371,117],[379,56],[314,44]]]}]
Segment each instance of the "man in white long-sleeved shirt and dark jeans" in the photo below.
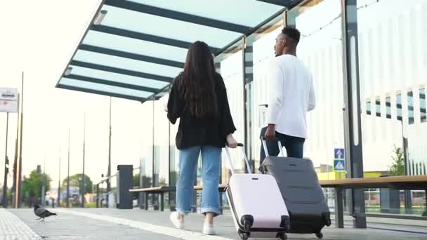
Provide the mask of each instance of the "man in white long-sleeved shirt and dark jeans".
[{"label": "man in white long-sleeved shirt and dark jeans", "polygon": [[[307,112],[315,108],[313,76],[296,58],[300,39],[298,29],[285,27],[276,38],[275,55],[268,70],[268,126],[261,136],[267,140],[268,154],[280,152],[277,140],[287,156],[302,158],[307,138]],[[261,146],[261,163],[265,153]]]}]

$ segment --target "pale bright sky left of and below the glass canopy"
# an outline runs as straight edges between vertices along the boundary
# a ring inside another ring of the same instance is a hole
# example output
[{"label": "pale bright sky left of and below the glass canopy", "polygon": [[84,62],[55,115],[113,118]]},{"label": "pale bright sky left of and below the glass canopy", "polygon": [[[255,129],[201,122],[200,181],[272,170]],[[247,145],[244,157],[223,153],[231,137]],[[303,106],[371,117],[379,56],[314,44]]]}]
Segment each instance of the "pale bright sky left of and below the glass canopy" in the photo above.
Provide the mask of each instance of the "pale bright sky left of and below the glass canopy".
[{"label": "pale bright sky left of and below the glass canopy", "polygon": [[[0,1],[0,88],[21,88],[24,72],[22,175],[46,166],[52,187],[81,173],[86,116],[86,174],[107,173],[110,98],[55,88],[100,0]],[[138,165],[143,142],[140,102],[112,100],[112,173],[117,164]],[[10,114],[8,158],[13,166],[17,114]],[[0,183],[4,179],[6,113],[0,113]],[[12,169],[8,186],[12,185]]]}]

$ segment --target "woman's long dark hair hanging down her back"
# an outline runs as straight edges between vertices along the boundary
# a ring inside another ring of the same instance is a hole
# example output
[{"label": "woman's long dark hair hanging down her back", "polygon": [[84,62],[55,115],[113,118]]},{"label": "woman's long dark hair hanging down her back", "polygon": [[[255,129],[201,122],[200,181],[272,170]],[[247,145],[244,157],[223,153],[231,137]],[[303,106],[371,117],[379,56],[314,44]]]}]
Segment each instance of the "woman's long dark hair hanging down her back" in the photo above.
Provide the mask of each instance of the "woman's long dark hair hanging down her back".
[{"label": "woman's long dark hair hanging down her back", "polygon": [[216,116],[216,70],[211,49],[202,41],[191,44],[180,77],[180,98],[185,100],[192,116]]}]

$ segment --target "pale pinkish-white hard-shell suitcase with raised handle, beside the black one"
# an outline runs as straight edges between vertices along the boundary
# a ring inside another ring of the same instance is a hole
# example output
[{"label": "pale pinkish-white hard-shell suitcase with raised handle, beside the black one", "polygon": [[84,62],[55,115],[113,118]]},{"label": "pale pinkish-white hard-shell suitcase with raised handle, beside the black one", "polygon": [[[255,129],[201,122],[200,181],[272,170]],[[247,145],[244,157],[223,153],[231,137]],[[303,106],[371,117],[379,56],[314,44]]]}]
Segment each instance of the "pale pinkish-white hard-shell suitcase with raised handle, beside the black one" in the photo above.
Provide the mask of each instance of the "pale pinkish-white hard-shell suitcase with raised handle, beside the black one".
[{"label": "pale pinkish-white hard-shell suitcase with raised handle, beside the black one", "polygon": [[[243,145],[239,144],[239,147]],[[235,173],[228,147],[225,147],[225,152],[232,172],[225,193],[240,238],[287,239],[286,232],[291,229],[291,222],[275,178],[251,173],[244,151],[249,173]]]}]

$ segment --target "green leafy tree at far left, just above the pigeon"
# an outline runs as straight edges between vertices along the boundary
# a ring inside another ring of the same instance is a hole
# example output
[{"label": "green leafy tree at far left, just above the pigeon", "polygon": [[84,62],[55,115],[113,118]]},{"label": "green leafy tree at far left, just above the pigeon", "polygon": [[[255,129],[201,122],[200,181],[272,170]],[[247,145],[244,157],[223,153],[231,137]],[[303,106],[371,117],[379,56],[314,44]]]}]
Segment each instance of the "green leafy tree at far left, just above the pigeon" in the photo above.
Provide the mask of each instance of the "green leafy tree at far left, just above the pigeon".
[{"label": "green leafy tree at far left, just above the pigeon", "polygon": [[33,170],[29,177],[24,176],[22,180],[22,201],[27,203],[28,206],[32,206],[41,201],[41,187],[43,186],[43,180],[46,177],[45,192],[51,189],[51,177],[45,173],[37,173],[37,170]]}]

